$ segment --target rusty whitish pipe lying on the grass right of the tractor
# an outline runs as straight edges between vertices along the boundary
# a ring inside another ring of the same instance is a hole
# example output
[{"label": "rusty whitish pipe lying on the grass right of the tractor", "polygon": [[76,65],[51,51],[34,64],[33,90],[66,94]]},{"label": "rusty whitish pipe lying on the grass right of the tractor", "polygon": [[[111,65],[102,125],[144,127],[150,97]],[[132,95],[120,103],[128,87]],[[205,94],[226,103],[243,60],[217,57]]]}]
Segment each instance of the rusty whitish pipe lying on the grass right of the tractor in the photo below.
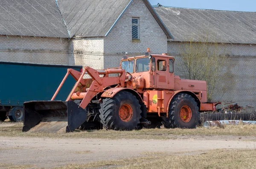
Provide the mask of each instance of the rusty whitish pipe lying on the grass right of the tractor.
[{"label": "rusty whitish pipe lying on the grass right of the tractor", "polygon": [[217,120],[217,121],[205,121],[204,127],[218,126],[222,127],[225,125],[239,125],[242,124],[256,124],[256,121],[244,121],[244,120]]}]

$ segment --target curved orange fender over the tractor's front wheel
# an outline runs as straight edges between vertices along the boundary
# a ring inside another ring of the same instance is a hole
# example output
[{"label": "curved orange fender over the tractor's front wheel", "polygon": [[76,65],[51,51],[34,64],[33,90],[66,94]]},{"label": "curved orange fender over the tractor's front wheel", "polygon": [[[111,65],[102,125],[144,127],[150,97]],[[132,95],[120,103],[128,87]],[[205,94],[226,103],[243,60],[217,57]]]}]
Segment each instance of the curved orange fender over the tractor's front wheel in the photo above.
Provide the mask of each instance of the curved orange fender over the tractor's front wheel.
[{"label": "curved orange fender over the tractor's front wheel", "polygon": [[133,89],[128,89],[128,88],[124,88],[124,87],[117,87],[117,88],[108,89],[104,93],[102,93],[101,97],[112,98],[112,97],[114,97],[114,95],[116,95],[116,93],[118,93],[120,91],[130,92],[131,94],[133,94],[139,100],[140,104],[143,103],[143,99],[142,99],[142,97],[140,96],[140,94],[138,92],[136,92]]}]

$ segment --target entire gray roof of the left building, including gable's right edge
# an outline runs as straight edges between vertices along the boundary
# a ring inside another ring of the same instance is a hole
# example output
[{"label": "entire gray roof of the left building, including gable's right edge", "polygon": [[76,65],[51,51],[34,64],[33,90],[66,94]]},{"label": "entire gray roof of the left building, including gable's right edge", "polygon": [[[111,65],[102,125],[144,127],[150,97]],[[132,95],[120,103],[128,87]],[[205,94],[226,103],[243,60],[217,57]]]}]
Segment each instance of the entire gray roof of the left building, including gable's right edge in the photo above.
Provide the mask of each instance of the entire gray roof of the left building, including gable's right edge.
[{"label": "entire gray roof of the left building, including gable's right edge", "polygon": [[[142,0],[172,38],[148,0]],[[105,37],[133,0],[0,0],[0,34]]]}]

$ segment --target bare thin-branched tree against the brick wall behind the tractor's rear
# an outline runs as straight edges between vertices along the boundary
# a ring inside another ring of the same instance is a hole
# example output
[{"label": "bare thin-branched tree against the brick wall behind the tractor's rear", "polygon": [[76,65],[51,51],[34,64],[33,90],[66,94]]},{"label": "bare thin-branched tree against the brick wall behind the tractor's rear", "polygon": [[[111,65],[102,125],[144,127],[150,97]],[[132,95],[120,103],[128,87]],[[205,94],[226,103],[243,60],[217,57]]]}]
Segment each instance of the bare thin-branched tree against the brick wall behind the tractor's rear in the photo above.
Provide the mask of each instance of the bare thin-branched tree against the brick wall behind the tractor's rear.
[{"label": "bare thin-branched tree against the brick wall behind the tractor's rear", "polygon": [[[223,45],[222,45],[223,46]],[[207,81],[207,100],[212,100],[215,84],[220,77],[227,56],[220,44],[212,38],[204,37],[197,42],[192,39],[180,45],[183,77]]]}]

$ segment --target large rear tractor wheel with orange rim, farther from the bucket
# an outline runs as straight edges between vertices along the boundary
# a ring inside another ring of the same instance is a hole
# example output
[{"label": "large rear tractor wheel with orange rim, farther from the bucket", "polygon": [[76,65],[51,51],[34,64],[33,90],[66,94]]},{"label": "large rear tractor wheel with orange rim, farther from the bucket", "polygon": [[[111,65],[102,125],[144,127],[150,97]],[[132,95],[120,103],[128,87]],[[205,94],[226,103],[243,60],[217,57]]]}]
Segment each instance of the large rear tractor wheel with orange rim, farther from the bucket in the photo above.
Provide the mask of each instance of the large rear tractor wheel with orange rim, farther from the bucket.
[{"label": "large rear tractor wheel with orange rim, farther from the bucket", "polygon": [[198,125],[199,111],[195,99],[185,93],[177,94],[169,105],[168,118],[162,117],[166,128],[194,129]]}]

